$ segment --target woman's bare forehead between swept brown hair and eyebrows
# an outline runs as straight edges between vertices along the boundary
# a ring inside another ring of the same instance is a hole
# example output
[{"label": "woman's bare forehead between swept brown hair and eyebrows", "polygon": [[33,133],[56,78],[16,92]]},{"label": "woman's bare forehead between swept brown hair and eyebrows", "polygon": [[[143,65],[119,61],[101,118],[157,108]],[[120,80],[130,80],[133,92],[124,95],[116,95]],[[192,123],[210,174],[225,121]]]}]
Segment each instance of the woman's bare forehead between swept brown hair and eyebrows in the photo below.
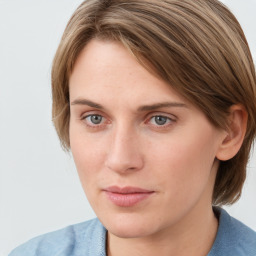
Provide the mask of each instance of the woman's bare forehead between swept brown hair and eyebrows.
[{"label": "woman's bare forehead between swept brown hair and eyebrows", "polygon": [[[133,104],[185,101],[165,81],[148,71],[119,42],[90,41],[80,53],[69,80],[71,100],[132,101]],[[148,102],[147,102],[148,101]]]}]

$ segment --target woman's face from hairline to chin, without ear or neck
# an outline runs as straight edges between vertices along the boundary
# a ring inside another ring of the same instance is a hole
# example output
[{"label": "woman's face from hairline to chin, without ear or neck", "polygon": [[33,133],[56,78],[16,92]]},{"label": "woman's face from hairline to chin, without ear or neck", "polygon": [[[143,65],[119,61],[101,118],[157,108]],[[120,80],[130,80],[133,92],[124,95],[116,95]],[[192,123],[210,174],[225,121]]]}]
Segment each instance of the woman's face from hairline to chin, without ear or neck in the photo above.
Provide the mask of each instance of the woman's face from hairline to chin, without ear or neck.
[{"label": "woman's face from hairline to chin, without ear or neck", "polygon": [[70,102],[71,151],[109,232],[150,236],[209,211],[224,132],[121,44],[85,47]]}]

